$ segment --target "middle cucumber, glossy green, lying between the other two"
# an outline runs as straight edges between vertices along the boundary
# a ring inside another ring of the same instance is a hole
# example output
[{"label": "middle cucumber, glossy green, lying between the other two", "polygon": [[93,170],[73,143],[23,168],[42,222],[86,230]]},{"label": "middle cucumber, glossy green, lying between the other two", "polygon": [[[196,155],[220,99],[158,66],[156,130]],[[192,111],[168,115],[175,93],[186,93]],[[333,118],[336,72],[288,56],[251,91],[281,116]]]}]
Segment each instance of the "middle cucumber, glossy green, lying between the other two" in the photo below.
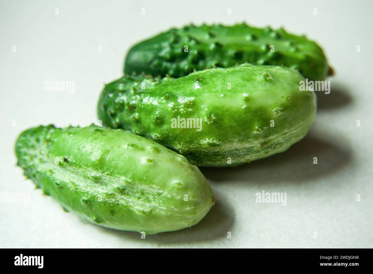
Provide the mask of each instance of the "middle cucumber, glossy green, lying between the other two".
[{"label": "middle cucumber, glossy green, lying between the other two", "polygon": [[[295,70],[252,64],[177,79],[124,76],[104,88],[98,117],[103,125],[175,149],[197,166],[236,166],[286,151],[307,134],[316,96],[300,91],[300,81]],[[202,130],[172,128],[178,116],[201,118]]]}]

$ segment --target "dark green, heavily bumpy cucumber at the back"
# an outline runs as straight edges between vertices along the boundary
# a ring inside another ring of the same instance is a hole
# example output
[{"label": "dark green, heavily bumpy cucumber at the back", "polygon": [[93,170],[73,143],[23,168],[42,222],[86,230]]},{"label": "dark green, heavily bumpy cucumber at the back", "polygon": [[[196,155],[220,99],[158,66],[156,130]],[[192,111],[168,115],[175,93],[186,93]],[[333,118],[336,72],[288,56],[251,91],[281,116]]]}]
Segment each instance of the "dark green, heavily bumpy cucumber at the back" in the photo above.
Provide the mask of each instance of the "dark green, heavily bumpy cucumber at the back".
[{"label": "dark green, heavily bumpy cucumber at the back", "polygon": [[[185,45],[188,52],[184,51]],[[282,28],[252,28],[244,23],[171,29],[132,47],[124,71],[177,78],[193,69],[231,67],[245,62],[298,69],[312,81],[332,74],[323,50],[305,36],[289,34]]]}]

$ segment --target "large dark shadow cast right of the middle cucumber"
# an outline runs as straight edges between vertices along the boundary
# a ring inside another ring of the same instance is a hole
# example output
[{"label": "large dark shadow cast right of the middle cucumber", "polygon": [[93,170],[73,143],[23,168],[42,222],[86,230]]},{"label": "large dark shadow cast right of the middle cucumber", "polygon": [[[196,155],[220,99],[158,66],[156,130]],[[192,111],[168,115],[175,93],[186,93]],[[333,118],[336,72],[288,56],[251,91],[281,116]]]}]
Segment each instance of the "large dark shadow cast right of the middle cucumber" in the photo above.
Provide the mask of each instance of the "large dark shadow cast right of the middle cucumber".
[{"label": "large dark shadow cast right of the middle cucumber", "polygon": [[[325,137],[325,134],[320,135]],[[330,142],[329,140],[338,140]],[[317,164],[314,164],[317,157]],[[318,138],[312,131],[287,151],[229,168],[206,168],[204,176],[216,182],[304,183],[338,172],[351,162],[349,142],[341,136]]]}]

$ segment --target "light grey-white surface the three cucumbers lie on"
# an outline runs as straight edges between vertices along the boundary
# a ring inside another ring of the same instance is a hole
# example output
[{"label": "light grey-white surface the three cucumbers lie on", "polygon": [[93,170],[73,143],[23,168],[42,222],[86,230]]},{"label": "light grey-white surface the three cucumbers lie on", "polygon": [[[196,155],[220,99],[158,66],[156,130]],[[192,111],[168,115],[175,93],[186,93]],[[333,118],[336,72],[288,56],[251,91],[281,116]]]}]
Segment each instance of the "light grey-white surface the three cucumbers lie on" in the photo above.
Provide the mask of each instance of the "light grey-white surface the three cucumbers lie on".
[{"label": "light grey-white surface the three cucumbers lie on", "polygon": [[[1,0],[0,193],[26,192],[30,201],[0,203],[0,247],[372,248],[372,2],[175,2]],[[331,93],[318,94],[310,134],[289,151],[236,169],[201,169],[216,206],[197,226],[141,239],[86,224],[15,166],[15,140],[26,128],[97,122],[103,83],[121,75],[132,44],[189,22],[243,20],[307,34],[336,76]],[[74,94],[44,91],[50,78],[75,81]],[[286,192],[287,205],[256,203],[262,190]]]}]

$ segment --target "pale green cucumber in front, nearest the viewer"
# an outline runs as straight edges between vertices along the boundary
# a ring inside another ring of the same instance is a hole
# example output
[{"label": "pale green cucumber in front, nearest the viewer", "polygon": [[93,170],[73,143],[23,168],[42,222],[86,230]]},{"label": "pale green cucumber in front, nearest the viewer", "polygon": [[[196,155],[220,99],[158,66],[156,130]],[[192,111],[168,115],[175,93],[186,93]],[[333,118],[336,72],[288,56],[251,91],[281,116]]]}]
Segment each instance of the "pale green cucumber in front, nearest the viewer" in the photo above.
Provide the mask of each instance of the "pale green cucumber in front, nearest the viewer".
[{"label": "pale green cucumber in front, nearest the viewer", "polygon": [[16,155],[25,175],[65,210],[112,229],[191,227],[214,203],[206,178],[184,156],[121,129],[40,126],[19,136]]}]

